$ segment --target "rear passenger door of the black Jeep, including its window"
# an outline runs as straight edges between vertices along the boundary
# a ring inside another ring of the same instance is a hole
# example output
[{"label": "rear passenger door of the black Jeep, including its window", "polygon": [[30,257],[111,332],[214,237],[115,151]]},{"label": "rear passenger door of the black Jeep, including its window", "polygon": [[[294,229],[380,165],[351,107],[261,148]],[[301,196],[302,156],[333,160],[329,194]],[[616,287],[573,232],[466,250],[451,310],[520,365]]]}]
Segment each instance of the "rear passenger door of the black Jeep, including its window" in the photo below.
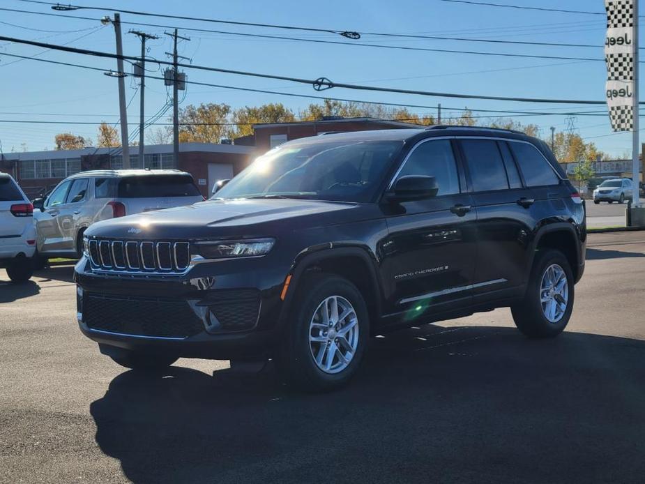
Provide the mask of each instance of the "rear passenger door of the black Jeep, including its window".
[{"label": "rear passenger door of the black Jeep, including its window", "polygon": [[533,197],[505,141],[466,138],[460,147],[477,211],[475,301],[490,298],[491,292],[513,296],[524,284]]}]

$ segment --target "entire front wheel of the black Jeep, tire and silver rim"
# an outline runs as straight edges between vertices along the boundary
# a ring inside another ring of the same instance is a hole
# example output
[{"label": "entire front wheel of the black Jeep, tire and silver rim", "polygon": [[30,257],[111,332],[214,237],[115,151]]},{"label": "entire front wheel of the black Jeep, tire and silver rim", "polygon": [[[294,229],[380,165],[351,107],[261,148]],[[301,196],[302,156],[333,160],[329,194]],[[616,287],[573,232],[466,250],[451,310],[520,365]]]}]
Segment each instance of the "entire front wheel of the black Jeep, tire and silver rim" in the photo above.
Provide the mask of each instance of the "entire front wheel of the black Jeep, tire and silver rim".
[{"label": "entire front wheel of the black Jeep, tire and silver rim", "polygon": [[[275,358],[278,371],[287,382],[305,391],[331,391],[347,384],[363,360],[370,333],[361,292],[337,275],[315,274],[303,282],[294,301]],[[334,304],[340,313],[337,316],[349,314],[329,326],[324,308],[333,314]],[[330,350],[334,351],[331,360]]]}]

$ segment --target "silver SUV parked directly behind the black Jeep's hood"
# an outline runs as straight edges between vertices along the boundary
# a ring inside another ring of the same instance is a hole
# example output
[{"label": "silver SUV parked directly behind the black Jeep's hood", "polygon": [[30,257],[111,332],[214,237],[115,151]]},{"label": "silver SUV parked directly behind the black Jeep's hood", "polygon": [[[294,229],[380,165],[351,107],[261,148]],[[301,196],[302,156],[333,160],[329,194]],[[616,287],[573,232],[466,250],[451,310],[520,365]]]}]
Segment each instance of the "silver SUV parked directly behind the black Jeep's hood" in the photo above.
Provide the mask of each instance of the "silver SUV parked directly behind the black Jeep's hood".
[{"label": "silver SUV parked directly behind the black Jeep's hood", "polygon": [[202,202],[192,175],[176,169],[80,172],[46,199],[33,200],[36,265],[49,257],[80,257],[83,232],[94,222]]}]

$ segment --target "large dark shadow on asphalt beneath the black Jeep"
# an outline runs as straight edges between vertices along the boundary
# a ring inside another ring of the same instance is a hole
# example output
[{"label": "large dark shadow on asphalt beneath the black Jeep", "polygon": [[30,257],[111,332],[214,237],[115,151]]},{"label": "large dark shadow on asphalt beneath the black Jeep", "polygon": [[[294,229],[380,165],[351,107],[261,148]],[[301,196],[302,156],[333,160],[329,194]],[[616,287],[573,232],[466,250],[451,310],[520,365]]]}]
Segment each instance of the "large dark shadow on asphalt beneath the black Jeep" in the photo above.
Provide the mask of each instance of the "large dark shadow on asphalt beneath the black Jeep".
[{"label": "large dark shadow on asphalt beneath the black Jeep", "polygon": [[123,372],[91,404],[135,483],[636,482],[645,342],[423,326],[375,338],[340,391],[272,370]]}]

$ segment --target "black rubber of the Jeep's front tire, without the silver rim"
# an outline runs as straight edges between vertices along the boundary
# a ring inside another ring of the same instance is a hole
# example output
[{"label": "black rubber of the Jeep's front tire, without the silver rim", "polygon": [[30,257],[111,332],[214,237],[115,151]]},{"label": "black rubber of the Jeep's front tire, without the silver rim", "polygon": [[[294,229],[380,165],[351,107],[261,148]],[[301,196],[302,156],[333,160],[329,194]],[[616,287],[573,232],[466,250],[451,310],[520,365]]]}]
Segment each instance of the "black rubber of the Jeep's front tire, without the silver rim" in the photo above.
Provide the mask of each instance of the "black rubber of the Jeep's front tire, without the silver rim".
[{"label": "black rubber of the Jeep's front tire, without the silver rim", "polygon": [[[334,374],[317,367],[309,341],[311,318],[320,303],[329,296],[347,299],[358,317],[358,345],[354,358],[347,368]],[[280,365],[290,379],[305,390],[328,391],[347,383],[361,365],[369,340],[369,315],[361,292],[349,280],[340,276],[317,274],[308,278],[296,297],[287,327],[287,345],[280,351]]]}]

